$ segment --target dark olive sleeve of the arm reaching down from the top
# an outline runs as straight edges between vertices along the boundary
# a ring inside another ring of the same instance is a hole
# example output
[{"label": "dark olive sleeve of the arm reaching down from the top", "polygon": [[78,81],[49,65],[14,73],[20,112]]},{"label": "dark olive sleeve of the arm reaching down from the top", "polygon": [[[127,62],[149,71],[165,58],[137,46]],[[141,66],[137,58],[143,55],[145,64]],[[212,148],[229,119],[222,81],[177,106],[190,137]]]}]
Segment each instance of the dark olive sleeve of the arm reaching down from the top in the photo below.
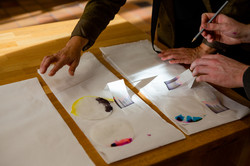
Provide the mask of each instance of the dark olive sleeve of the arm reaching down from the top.
[{"label": "dark olive sleeve of the arm reaching down from the top", "polygon": [[100,33],[107,27],[110,20],[124,5],[126,0],[90,0],[75,26],[71,37],[82,36],[89,40],[83,50],[91,47]]}]

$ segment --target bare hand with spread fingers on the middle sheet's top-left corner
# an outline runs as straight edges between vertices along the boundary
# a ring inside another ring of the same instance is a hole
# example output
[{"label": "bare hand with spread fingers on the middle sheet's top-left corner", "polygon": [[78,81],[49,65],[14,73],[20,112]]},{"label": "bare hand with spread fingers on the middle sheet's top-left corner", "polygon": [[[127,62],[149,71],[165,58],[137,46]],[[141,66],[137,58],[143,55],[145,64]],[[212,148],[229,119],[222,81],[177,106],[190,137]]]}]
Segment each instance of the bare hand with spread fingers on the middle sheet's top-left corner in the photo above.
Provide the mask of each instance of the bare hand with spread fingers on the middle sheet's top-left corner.
[{"label": "bare hand with spread fingers on the middle sheet's top-left corner", "polygon": [[81,49],[88,43],[87,39],[80,36],[73,36],[66,46],[57,53],[45,56],[40,65],[40,72],[44,74],[48,67],[55,63],[54,67],[49,72],[49,76],[53,76],[64,65],[69,65],[69,74],[74,75],[75,69],[79,64],[81,57]]}]

